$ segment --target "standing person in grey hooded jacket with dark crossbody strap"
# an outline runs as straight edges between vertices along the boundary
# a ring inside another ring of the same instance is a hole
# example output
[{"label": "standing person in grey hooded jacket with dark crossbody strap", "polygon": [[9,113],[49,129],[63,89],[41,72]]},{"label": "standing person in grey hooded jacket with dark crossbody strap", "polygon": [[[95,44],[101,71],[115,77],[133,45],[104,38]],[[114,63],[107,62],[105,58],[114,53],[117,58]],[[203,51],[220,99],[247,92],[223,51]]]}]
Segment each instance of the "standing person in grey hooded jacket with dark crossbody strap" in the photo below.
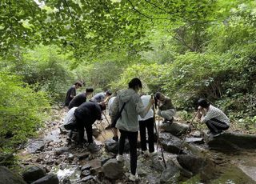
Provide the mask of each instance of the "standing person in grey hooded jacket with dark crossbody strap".
[{"label": "standing person in grey hooded jacket with dark crossbody strap", "polygon": [[118,162],[123,161],[123,151],[126,138],[129,140],[130,146],[130,177],[131,181],[138,180],[137,169],[137,141],[138,141],[138,115],[145,117],[150,110],[154,99],[150,98],[150,102],[146,107],[143,106],[142,99],[138,91],[142,89],[142,82],[138,78],[133,78],[128,84],[127,90],[122,90],[118,93],[117,98],[114,99],[112,104],[112,117],[118,114],[119,110],[123,107],[121,117],[118,118],[116,128],[120,131],[119,147],[118,147]]}]

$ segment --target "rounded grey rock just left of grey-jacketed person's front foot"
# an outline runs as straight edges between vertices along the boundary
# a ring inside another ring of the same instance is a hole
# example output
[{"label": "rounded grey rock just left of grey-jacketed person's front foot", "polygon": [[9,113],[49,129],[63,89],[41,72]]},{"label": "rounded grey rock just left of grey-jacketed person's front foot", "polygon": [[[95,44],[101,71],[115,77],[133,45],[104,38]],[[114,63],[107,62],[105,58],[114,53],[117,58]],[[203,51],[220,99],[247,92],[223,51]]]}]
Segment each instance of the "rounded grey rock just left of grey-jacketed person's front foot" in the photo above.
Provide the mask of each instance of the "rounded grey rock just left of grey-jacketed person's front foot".
[{"label": "rounded grey rock just left of grey-jacketed person's front foot", "polygon": [[122,164],[118,163],[116,159],[110,159],[102,166],[102,171],[106,178],[118,179],[122,178],[123,170]]}]

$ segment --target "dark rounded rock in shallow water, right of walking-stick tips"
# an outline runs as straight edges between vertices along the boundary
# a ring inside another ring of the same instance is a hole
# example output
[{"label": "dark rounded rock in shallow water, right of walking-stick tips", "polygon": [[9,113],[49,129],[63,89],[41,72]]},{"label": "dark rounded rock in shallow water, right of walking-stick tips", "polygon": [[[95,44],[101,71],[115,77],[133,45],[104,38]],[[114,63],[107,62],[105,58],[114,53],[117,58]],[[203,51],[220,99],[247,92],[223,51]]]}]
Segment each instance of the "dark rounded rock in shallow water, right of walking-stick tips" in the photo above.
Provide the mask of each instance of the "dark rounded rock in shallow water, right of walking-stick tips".
[{"label": "dark rounded rock in shallow water, right of walking-stick tips", "polygon": [[198,174],[202,170],[206,170],[206,167],[214,170],[216,167],[214,162],[208,158],[201,158],[194,155],[180,154],[177,157],[178,163],[186,170],[191,171],[193,174]]}]

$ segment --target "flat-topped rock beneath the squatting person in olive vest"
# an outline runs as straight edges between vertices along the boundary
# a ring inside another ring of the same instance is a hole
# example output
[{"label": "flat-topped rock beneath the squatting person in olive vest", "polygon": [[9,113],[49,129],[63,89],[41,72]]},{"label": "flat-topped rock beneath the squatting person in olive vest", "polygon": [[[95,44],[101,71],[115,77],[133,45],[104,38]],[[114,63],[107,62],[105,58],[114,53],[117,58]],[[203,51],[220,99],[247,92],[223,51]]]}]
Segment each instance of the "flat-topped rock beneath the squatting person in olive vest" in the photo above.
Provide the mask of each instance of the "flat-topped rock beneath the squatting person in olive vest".
[{"label": "flat-topped rock beneath the squatting person in olive vest", "polygon": [[189,129],[189,125],[180,123],[180,122],[172,122],[172,123],[162,123],[160,128],[164,132],[168,132],[175,136],[180,136],[182,134],[186,134],[186,130]]}]

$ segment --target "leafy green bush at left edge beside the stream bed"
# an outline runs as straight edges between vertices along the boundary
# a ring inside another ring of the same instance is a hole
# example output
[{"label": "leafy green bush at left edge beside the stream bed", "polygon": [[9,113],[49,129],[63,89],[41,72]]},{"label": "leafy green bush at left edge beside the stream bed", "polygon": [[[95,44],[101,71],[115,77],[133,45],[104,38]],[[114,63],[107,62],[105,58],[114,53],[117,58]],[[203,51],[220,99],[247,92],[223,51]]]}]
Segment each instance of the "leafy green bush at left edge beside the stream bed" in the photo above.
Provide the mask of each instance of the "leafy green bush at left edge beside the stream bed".
[{"label": "leafy green bush at left edge beside the stream bed", "polygon": [[0,72],[0,149],[10,151],[34,135],[50,108],[42,91],[34,92],[21,78]]}]

